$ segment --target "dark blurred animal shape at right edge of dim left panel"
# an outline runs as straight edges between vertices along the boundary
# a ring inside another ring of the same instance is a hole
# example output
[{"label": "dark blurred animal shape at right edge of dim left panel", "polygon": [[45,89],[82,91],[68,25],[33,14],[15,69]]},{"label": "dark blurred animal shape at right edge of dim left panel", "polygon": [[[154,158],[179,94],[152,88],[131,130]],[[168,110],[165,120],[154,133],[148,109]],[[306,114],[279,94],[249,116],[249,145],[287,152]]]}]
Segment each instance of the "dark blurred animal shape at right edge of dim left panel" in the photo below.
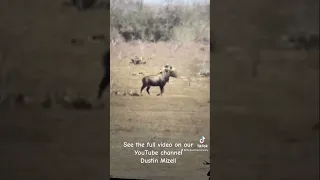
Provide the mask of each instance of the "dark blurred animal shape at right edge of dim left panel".
[{"label": "dark blurred animal shape at right edge of dim left panel", "polygon": [[98,90],[98,99],[101,99],[102,94],[106,87],[110,84],[110,50],[107,50],[103,56],[103,67],[104,67],[104,76],[99,84],[99,90]]}]

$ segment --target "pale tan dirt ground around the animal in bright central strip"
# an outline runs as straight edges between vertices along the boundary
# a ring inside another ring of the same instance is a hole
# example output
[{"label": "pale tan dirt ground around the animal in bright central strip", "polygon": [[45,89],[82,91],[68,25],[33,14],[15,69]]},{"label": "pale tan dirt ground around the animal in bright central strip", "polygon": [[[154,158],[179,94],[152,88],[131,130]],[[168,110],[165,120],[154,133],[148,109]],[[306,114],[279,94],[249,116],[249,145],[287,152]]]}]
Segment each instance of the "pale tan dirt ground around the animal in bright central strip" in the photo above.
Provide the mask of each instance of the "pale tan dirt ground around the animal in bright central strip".
[{"label": "pale tan dirt ground around the animal in bright central strip", "polygon": [[[124,142],[168,142],[194,143],[193,148],[186,149],[195,149],[202,136],[210,137],[210,79],[196,76],[200,70],[210,68],[209,47],[185,44],[172,52],[173,45],[143,43],[140,46],[137,42],[111,48],[112,92],[132,90],[140,93],[143,75],[139,72],[144,75],[157,74],[167,63],[178,72],[178,78],[170,78],[165,86],[163,97],[156,96],[160,92],[159,87],[151,87],[151,95],[145,90],[143,96],[111,95],[110,173],[116,177],[207,178],[209,167],[203,165],[203,161],[209,160],[209,151],[183,152],[183,155],[176,156],[176,164],[141,164],[141,156],[134,156],[133,150],[151,148],[123,148]],[[146,64],[130,65],[131,58],[135,56],[142,56]],[[209,146],[210,142],[206,144]],[[163,149],[181,148],[154,148],[159,151]]]}]

